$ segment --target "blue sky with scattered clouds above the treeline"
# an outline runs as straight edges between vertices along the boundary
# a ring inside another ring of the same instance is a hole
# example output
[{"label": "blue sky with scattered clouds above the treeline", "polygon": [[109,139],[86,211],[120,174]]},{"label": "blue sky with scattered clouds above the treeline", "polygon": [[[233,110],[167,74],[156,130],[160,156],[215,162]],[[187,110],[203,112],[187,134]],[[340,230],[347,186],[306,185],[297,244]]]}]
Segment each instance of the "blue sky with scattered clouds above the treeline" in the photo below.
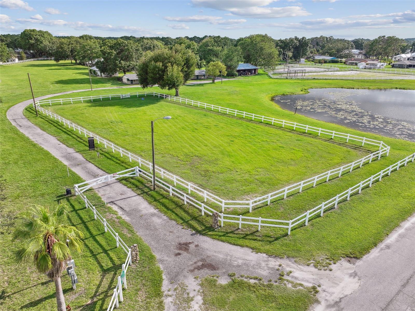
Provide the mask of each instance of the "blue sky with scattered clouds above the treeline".
[{"label": "blue sky with scattered clouds above the treeline", "polygon": [[415,37],[410,0],[0,0],[0,33],[47,30],[55,36],[231,38]]}]

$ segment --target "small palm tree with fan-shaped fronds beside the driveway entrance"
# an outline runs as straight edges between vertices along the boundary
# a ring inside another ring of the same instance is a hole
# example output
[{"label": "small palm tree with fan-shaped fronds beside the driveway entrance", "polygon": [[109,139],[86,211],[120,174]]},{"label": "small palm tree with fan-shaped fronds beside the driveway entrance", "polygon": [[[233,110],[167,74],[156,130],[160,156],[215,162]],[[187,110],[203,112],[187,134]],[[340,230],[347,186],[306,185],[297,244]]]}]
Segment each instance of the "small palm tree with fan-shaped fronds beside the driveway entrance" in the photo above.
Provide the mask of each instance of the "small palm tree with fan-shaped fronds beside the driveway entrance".
[{"label": "small palm tree with fan-shaped fronds beside the driveway entrance", "polygon": [[59,204],[53,211],[34,205],[28,216],[17,218],[13,233],[13,239],[20,243],[14,252],[15,262],[34,260],[37,270],[54,280],[58,311],[66,311],[61,275],[71,259],[69,247],[80,252],[83,245],[82,232],[65,223],[67,216],[66,204]]}]

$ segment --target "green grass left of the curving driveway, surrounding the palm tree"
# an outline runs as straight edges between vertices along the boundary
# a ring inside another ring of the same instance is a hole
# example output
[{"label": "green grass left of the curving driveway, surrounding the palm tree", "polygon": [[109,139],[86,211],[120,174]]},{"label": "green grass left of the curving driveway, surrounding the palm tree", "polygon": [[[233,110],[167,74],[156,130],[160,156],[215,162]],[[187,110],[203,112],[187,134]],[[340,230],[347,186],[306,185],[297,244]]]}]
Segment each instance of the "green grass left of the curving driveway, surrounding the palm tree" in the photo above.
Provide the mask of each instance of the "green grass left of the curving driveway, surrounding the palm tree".
[{"label": "green grass left of the curving driveway, surrounding the palm tree", "polygon": [[[27,72],[31,73],[35,93],[40,96],[88,88],[88,71],[69,62],[53,61],[2,66],[0,70],[0,310],[56,310],[54,283],[37,273],[31,262],[22,266],[12,262],[15,245],[10,233],[15,218],[28,206],[35,203],[54,206],[59,200],[69,204],[70,223],[85,235],[82,253],[73,253],[79,281],[76,290],[72,290],[68,276],[62,279],[66,303],[72,310],[106,310],[125,252],[116,247],[109,233],[104,233],[102,224],[94,220],[91,211],[85,210],[82,201],[63,196],[67,187],[82,179],[72,171],[68,176],[63,163],[29,140],[6,118],[8,108],[31,98]],[[120,85],[113,78],[92,79],[95,86]],[[139,245],[141,259],[128,270],[124,310],[164,310],[162,271],[150,248],[131,225],[105,207],[98,195],[90,193],[88,198],[106,215],[127,245]]]}]

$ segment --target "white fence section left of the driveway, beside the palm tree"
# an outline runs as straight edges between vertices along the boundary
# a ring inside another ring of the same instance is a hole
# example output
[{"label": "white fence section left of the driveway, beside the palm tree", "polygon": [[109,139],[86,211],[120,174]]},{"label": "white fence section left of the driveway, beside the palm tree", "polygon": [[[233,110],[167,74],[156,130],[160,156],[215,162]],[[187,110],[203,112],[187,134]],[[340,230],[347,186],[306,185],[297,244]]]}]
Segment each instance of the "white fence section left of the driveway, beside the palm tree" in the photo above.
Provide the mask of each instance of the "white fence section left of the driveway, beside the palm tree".
[{"label": "white fence section left of the driveway, beside the palm tree", "polygon": [[[132,264],[131,261],[131,249],[125,244],[125,242],[120,238],[118,233],[111,227],[109,223],[107,223],[107,220],[103,217],[103,215],[100,214],[100,212],[97,211],[95,206],[93,206],[88,198],[82,193],[80,189],[78,189],[77,185],[75,185],[75,194],[81,196],[83,201],[85,202],[85,208],[90,208],[91,211],[94,213],[95,220],[99,220],[104,225],[104,231],[109,232],[112,237],[115,239],[115,242],[117,243],[117,247],[120,247],[127,253],[127,258],[125,259],[125,262],[122,264],[122,270],[121,275],[118,276],[117,279],[117,286],[114,289],[114,293],[112,294],[110,304],[107,308],[107,311],[112,311],[114,308],[118,308],[119,303],[124,300],[124,297],[122,295],[122,285],[124,286],[124,289],[127,289],[127,269],[130,264]],[[120,299],[118,299],[118,296],[120,296]]]}]

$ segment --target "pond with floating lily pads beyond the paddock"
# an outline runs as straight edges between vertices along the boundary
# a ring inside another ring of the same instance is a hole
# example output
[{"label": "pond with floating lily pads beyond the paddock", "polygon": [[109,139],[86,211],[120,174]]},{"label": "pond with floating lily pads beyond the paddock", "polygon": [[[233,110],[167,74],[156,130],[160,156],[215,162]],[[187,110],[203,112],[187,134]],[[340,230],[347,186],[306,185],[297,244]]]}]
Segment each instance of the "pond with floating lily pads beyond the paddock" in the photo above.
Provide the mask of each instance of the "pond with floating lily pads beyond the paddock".
[{"label": "pond with floating lily pads beyond the paddock", "polygon": [[281,108],[317,120],[415,142],[414,90],[312,88],[274,97]]}]

